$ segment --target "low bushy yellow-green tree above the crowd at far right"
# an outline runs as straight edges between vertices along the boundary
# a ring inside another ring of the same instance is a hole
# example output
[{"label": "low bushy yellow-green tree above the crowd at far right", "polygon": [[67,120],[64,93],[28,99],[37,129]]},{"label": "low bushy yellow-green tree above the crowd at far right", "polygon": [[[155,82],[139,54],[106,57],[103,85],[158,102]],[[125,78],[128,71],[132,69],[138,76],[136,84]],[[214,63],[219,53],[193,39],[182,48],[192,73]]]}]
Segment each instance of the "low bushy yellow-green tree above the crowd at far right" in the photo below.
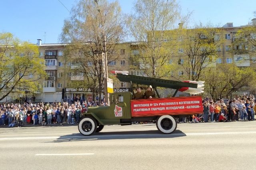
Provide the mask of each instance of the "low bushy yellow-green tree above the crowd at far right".
[{"label": "low bushy yellow-green tree above the crowd at far right", "polygon": [[255,70],[238,68],[235,64],[220,64],[217,68],[209,68],[204,74],[204,91],[211,95],[213,99],[232,96],[242,87],[250,89],[253,85],[253,77],[256,76]]}]

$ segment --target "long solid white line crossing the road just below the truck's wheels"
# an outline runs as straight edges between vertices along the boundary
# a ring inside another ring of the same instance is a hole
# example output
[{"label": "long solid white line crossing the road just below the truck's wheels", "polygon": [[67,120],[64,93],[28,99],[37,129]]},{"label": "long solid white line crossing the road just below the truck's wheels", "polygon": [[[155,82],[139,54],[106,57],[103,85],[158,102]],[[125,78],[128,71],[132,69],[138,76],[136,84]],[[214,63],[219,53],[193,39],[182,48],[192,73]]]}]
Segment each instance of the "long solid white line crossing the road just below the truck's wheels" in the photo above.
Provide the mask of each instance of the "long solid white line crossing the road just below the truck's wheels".
[{"label": "long solid white line crossing the road just below the truck's wheels", "polygon": [[209,132],[209,133],[174,133],[174,134],[116,134],[116,135],[95,135],[92,136],[42,136],[42,137],[18,137],[18,138],[0,138],[0,140],[27,140],[27,139],[76,139],[89,138],[85,140],[98,140],[99,137],[127,137],[127,136],[195,136],[195,135],[223,135],[223,134],[256,134],[252,132]]}]

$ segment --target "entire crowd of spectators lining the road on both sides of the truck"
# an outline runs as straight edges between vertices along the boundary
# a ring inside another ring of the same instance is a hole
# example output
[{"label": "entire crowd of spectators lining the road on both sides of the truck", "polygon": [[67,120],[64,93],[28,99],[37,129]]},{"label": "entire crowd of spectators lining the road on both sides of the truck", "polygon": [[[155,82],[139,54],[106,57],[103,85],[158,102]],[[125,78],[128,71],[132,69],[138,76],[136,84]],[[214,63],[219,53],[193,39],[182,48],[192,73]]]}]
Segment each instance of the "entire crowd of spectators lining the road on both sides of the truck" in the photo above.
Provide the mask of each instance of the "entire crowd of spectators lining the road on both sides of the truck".
[{"label": "entire crowd of spectators lining the road on both sides of the truck", "polygon": [[[240,96],[234,99],[218,99],[216,101],[206,97],[203,99],[204,112],[181,118],[180,123],[199,122],[229,122],[229,121],[254,121],[255,98],[253,95]],[[101,102],[63,103],[27,103],[0,104],[0,126],[21,127],[24,124],[75,124],[82,118],[82,113],[87,112],[90,106],[108,106]]]}]

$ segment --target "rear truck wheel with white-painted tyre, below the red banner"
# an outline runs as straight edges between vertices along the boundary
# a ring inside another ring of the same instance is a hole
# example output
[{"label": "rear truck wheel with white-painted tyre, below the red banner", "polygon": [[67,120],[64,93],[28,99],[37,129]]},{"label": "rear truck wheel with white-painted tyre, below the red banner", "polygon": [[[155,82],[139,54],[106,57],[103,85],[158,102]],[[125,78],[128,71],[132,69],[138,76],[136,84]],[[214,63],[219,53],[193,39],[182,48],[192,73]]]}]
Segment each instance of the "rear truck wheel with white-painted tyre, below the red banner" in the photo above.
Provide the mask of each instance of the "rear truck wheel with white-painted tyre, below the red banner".
[{"label": "rear truck wheel with white-painted tyre, below the red banner", "polygon": [[164,134],[170,134],[177,128],[175,118],[170,115],[159,116],[156,120],[156,127]]}]

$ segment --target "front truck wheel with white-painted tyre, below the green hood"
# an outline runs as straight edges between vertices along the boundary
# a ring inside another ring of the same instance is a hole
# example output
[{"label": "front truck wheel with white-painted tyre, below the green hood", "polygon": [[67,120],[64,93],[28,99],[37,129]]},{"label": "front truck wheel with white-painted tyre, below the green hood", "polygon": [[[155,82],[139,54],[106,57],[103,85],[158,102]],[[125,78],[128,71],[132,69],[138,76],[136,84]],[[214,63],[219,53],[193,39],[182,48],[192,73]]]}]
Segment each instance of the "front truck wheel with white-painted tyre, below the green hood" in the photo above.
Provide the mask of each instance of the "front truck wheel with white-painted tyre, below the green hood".
[{"label": "front truck wheel with white-painted tyre, below the green hood", "polygon": [[97,130],[96,120],[91,117],[83,118],[78,124],[78,130],[85,136],[93,134]]}]

